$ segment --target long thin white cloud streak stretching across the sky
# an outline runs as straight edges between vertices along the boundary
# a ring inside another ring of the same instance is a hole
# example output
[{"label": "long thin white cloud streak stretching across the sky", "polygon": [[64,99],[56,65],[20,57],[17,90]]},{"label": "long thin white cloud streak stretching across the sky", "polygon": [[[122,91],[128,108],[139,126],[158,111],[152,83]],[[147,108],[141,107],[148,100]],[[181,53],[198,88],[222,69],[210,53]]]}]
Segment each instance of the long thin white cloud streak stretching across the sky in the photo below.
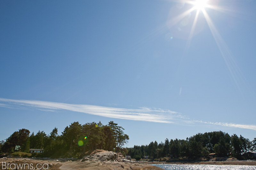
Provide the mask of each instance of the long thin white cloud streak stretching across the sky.
[{"label": "long thin white cloud streak stretching across the sky", "polygon": [[138,109],[126,109],[126,108],[116,108],[116,107],[103,107],[95,105],[82,105],[82,104],[67,104],[59,102],[50,101],[40,101],[40,100],[13,100],[0,98],[0,107],[8,107],[14,109],[37,109],[42,111],[58,111],[58,110],[68,110],[72,112],[80,112],[91,115],[98,115],[117,119],[126,119],[134,121],[146,121],[146,122],[159,122],[159,123],[183,123],[183,124],[193,124],[206,123],[217,126],[226,126],[231,128],[241,128],[241,129],[252,129],[256,130],[256,125],[244,125],[235,123],[222,123],[222,122],[204,122],[191,120],[186,115],[182,115],[178,112],[173,112],[171,110],[164,110],[159,108],[148,108],[140,107]]}]

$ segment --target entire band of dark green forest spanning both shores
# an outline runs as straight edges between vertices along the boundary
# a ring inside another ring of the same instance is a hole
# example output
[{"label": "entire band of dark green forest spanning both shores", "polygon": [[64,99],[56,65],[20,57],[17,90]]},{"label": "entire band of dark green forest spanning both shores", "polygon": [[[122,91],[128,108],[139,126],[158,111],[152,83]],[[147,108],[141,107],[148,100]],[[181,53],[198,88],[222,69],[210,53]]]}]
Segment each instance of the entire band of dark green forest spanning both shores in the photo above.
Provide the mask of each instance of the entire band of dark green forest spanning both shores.
[{"label": "entire band of dark green forest spanning both shores", "polygon": [[[230,136],[222,131],[198,133],[184,139],[165,139],[164,143],[151,142],[127,148],[129,136],[124,134],[124,128],[113,121],[107,125],[99,123],[73,122],[67,126],[61,135],[55,127],[50,134],[38,131],[36,134],[28,129],[19,129],[13,132],[5,141],[0,142],[0,155],[27,153],[26,157],[51,157],[51,158],[79,158],[87,151],[103,149],[107,151],[122,152],[134,159],[140,160],[148,156],[150,160],[169,159],[197,159],[207,158],[210,153],[218,157],[236,157],[245,159],[244,153],[256,151],[256,138],[253,141],[236,134]],[[19,150],[15,150],[20,146]],[[43,153],[29,153],[29,149],[44,149]],[[24,154],[23,154],[24,155]]]}]

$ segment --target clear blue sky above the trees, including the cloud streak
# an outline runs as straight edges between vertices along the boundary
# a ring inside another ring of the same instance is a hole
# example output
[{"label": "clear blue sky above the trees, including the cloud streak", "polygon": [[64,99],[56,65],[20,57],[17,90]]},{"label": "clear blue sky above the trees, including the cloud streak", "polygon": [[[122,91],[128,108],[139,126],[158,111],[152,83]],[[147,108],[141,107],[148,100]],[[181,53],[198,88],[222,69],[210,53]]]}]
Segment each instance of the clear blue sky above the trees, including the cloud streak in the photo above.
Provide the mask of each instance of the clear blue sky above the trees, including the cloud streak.
[{"label": "clear blue sky above the trees, including the cloud streak", "polygon": [[75,121],[114,121],[127,146],[252,140],[256,2],[194,3],[0,1],[0,140]]}]

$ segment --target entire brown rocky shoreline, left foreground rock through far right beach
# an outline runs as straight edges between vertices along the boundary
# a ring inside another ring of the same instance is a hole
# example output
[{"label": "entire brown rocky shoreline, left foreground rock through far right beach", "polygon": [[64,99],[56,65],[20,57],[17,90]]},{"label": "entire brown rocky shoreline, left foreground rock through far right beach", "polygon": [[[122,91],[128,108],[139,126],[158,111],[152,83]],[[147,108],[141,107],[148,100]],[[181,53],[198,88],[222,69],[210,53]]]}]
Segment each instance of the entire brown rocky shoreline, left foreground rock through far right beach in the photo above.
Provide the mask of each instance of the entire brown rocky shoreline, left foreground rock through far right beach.
[{"label": "entire brown rocky shoreline, left foreground rock through far right beach", "polygon": [[[194,162],[145,162],[145,161],[129,161],[124,158],[121,153],[109,152],[104,150],[96,150],[82,159],[35,159],[35,158],[1,158],[0,169],[2,165],[14,164],[45,164],[51,170],[162,170],[162,168],[149,164],[195,164],[195,165],[251,165],[256,166],[255,160],[237,160],[227,158],[226,160],[216,161],[219,159],[211,159],[210,161],[194,161]],[[4,164],[3,164],[4,163]],[[17,168],[18,169],[18,168]],[[36,169],[36,168],[35,168]]]}]

